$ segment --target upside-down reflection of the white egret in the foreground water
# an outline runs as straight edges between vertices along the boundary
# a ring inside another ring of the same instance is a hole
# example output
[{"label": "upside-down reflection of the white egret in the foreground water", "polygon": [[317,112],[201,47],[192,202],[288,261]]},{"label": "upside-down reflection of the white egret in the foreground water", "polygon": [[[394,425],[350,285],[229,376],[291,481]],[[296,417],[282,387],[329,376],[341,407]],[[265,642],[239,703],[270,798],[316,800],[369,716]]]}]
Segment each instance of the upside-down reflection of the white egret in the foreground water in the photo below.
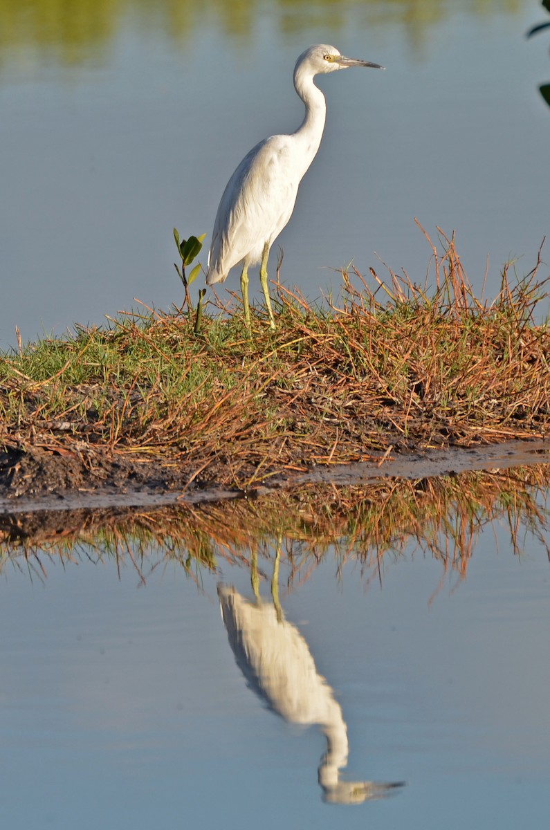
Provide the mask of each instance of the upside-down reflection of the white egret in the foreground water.
[{"label": "upside-down reflection of the white egret in the foreground water", "polygon": [[324,801],[354,804],[395,793],[402,782],[341,780],[348,755],[346,722],[331,686],[317,671],[307,642],[297,627],[285,619],[278,601],[277,571],[278,552],[271,602],[259,595],[254,562],[254,601],[243,598],[233,587],[223,583],[218,586],[223,624],[248,686],[289,723],[321,727],[327,738],[327,753],[318,769]]}]

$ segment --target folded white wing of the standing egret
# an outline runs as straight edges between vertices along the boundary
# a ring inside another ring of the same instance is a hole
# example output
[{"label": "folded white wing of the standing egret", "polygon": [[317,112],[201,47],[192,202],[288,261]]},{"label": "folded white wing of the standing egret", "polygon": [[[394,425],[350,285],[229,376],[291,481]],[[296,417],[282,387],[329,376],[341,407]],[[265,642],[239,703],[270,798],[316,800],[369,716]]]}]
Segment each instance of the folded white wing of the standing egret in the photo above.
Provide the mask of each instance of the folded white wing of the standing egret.
[{"label": "folded white wing of the standing egret", "polygon": [[271,244],[291,217],[299,178],[290,138],[275,135],[257,144],[229,179],[214,222],[209,282],[223,281],[245,257],[260,261],[265,243]]}]

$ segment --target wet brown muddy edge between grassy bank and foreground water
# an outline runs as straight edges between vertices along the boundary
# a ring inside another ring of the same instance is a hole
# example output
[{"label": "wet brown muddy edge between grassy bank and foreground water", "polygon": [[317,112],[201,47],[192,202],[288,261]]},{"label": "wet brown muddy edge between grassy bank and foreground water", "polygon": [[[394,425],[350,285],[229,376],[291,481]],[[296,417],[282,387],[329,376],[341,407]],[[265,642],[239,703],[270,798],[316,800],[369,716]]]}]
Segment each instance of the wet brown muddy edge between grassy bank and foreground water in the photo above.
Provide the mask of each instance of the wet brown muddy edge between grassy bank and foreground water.
[{"label": "wet brown muddy edge between grassy bank and foreground water", "polygon": [[[74,462],[74,463],[73,463]],[[215,478],[194,476],[166,461],[120,459],[86,470],[71,457],[35,452],[0,459],[0,514],[38,510],[102,509],[171,504],[199,504],[238,498],[258,498],[277,490],[309,485],[346,486],[385,478],[418,480],[454,476],[465,471],[502,470],[550,463],[550,442],[520,440],[474,447],[448,447],[407,452],[352,464],[319,465],[277,472],[245,490],[220,486]]]}]

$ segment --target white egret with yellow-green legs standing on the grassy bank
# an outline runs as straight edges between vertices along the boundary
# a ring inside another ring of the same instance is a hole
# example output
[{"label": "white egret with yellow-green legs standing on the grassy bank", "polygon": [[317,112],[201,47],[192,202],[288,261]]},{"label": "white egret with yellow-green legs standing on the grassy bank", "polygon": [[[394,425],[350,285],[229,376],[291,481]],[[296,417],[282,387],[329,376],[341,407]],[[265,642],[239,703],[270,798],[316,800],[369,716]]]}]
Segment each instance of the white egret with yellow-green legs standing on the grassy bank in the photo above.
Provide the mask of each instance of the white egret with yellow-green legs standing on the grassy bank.
[{"label": "white egret with yellow-green legs standing on the grassy bank", "polygon": [[223,191],[214,221],[206,284],[223,282],[233,266],[243,263],[241,293],[248,330],[248,266],[258,262],[269,322],[275,328],[268,290],[269,249],[292,216],[298,186],[317,154],[327,116],[325,96],[313,78],[351,66],[384,68],[344,57],[325,44],[302,52],[294,67],[294,87],[306,107],[302,125],[291,135],[272,135],[256,144]]}]

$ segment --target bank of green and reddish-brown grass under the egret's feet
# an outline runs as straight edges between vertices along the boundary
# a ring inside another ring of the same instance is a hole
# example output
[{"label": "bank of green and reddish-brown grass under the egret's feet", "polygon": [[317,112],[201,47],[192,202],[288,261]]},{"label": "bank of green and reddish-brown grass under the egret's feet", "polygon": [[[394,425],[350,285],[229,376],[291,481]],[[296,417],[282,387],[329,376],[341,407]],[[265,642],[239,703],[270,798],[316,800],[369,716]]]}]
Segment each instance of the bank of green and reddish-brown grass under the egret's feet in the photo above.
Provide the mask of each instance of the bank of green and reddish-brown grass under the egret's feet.
[{"label": "bank of green and reddish-brown grass under the egret's feet", "polygon": [[547,435],[540,256],[522,280],[504,271],[488,301],[452,240],[434,253],[430,290],[391,272],[369,287],[355,271],[312,307],[277,286],[277,329],[257,310],[252,338],[240,310],[209,304],[199,335],[190,310],[151,311],[2,354],[1,475],[37,455],[100,481],[113,461],[155,460],[185,481],[247,486],[390,447]]}]

